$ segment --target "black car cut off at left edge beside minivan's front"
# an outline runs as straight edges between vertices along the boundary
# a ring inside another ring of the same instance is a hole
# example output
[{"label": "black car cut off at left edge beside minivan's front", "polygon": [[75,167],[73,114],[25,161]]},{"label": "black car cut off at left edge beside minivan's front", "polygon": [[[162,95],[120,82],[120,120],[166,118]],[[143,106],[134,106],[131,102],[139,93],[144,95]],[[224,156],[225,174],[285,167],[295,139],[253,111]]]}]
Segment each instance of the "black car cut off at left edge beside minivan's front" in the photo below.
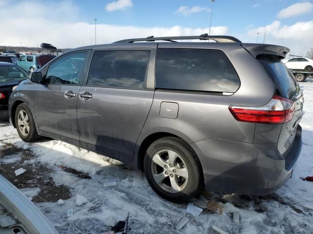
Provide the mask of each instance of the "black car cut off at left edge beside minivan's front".
[{"label": "black car cut off at left edge beside minivan's front", "polygon": [[29,73],[21,67],[0,62],[0,119],[8,118],[8,101],[12,88],[28,77]]}]

